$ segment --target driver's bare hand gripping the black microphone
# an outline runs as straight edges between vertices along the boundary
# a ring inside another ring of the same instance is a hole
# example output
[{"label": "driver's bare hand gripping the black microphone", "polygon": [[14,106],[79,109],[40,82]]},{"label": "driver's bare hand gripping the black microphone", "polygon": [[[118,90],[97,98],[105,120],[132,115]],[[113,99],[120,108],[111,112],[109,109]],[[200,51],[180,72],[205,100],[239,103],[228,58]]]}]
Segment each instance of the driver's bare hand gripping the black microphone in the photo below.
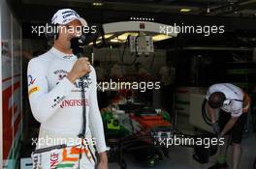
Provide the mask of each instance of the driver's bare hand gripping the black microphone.
[{"label": "driver's bare hand gripping the black microphone", "polygon": [[84,74],[90,72],[90,62],[87,57],[81,57],[74,64],[72,70],[67,74],[67,78],[72,82],[83,76]]}]

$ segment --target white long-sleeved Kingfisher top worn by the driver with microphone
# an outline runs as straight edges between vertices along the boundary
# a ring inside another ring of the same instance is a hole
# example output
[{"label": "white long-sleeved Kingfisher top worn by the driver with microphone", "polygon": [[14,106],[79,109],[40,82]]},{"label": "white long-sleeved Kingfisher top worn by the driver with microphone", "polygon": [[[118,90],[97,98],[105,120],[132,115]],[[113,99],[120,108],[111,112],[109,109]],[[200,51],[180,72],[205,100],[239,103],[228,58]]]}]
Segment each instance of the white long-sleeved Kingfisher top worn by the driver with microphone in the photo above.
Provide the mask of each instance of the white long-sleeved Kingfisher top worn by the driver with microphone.
[{"label": "white long-sleeved Kingfisher top worn by the driver with microphone", "polygon": [[82,106],[86,105],[86,133],[96,138],[99,153],[107,150],[97,101],[96,73],[93,67],[84,80],[85,101],[81,99],[80,79],[72,84],[65,76],[77,56],[52,47],[28,64],[28,94],[33,116],[41,127],[60,134],[78,135],[82,126]]}]

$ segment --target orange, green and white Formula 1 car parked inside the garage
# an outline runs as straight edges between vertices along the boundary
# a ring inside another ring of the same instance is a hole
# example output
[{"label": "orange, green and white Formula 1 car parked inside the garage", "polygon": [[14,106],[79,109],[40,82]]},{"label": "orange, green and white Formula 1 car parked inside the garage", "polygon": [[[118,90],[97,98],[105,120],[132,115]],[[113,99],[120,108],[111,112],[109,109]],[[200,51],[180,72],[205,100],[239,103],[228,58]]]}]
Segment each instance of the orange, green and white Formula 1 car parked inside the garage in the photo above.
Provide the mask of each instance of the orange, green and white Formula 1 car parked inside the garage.
[{"label": "orange, green and white Formula 1 car parked inside the garage", "polygon": [[[117,104],[101,110],[110,162],[118,162],[122,169],[127,167],[124,154],[131,154],[146,166],[154,166],[169,155],[164,140],[176,137],[204,138],[209,134],[188,135],[178,131],[168,112],[144,107],[141,104]],[[216,154],[216,147],[180,145],[192,147],[194,159],[207,163],[210,155]],[[116,161],[117,160],[117,161]]]}]

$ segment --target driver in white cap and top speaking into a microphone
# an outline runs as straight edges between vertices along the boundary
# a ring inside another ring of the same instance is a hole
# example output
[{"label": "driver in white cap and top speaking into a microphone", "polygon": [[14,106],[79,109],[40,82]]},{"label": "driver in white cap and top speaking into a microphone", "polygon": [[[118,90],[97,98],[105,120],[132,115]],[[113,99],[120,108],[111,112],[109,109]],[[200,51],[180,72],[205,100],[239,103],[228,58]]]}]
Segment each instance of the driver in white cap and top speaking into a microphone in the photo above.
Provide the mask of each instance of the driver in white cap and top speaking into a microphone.
[{"label": "driver in white cap and top speaking into a microphone", "polygon": [[[82,128],[82,107],[85,106],[84,137],[95,142],[97,167],[107,169],[107,147],[97,102],[96,73],[88,58],[78,59],[73,54],[70,42],[81,31],[78,28],[87,26],[87,23],[71,9],[59,10],[53,15],[51,23],[58,25],[58,35],[52,48],[30,60],[27,70],[31,110],[35,119],[41,123],[37,149],[63,143],[75,146]],[[84,74],[88,74],[88,77],[80,81]],[[81,83],[85,86],[85,99],[81,99]],[[90,169],[95,167],[95,161],[90,159],[94,153],[95,150],[85,150],[80,156],[77,148],[60,152],[53,150],[41,166],[43,169],[67,167],[68,161],[79,159],[80,168]],[[55,166],[59,158],[64,163]]]}]

